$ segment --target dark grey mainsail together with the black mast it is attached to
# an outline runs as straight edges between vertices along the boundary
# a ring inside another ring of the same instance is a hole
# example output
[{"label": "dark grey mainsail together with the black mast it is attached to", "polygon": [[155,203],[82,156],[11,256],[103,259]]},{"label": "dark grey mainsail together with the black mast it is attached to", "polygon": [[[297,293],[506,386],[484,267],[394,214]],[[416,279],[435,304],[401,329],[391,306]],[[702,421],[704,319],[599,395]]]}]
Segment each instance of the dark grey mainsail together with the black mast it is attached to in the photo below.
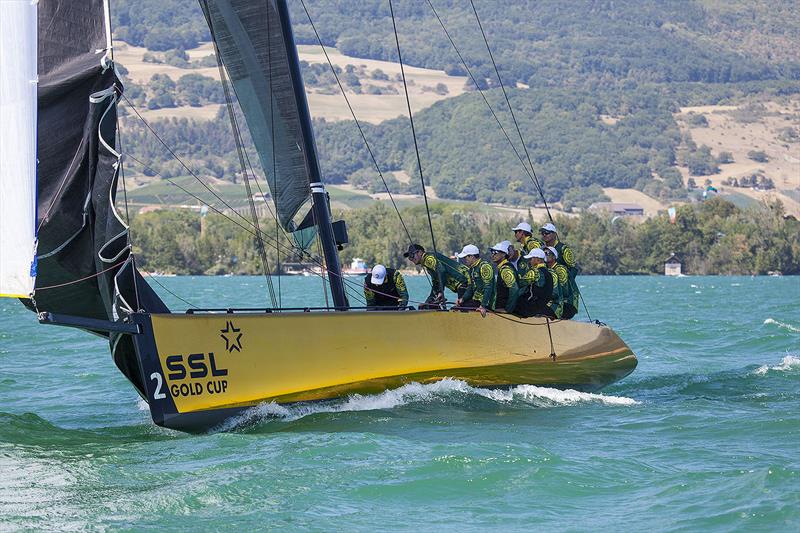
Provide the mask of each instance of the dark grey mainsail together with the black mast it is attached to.
[{"label": "dark grey mainsail together with the black mast it is attached to", "polygon": [[200,0],[267,175],[280,224],[313,195],[313,214],[337,307],[347,307],[328,198],[285,0]]}]

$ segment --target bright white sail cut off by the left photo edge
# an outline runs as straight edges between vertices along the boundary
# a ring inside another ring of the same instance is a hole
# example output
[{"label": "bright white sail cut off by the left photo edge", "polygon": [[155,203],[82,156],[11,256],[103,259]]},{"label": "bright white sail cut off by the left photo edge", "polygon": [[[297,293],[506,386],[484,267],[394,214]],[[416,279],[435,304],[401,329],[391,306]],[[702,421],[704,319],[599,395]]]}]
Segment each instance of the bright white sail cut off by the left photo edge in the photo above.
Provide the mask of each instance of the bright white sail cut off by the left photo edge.
[{"label": "bright white sail cut off by the left photo edge", "polygon": [[0,296],[27,297],[36,253],[37,7],[0,4]]}]

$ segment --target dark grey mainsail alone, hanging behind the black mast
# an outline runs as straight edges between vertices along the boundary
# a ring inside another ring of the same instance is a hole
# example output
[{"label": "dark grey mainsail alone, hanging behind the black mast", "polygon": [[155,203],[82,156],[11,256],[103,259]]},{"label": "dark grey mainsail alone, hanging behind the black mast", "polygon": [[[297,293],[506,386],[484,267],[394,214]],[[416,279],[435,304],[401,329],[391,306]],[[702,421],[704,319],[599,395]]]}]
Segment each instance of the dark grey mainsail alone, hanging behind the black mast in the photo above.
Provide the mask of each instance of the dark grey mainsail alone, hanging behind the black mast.
[{"label": "dark grey mainsail alone, hanging behind the black mast", "polygon": [[[292,231],[292,218],[310,196],[307,133],[298,110],[288,46],[275,0],[200,0],[220,58],[236,91],[267,176],[278,220]],[[291,37],[291,36],[289,36]],[[298,86],[299,85],[299,86]],[[273,175],[274,163],[274,175]]]}]

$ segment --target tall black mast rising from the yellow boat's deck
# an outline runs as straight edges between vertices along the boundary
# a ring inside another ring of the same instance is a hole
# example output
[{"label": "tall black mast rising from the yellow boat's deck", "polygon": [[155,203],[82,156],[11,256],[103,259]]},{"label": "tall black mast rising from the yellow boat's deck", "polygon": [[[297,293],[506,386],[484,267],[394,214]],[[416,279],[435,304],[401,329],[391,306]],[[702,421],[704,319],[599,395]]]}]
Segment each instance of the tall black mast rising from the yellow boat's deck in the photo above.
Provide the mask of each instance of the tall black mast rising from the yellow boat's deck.
[{"label": "tall black mast rising from the yellow boat's deck", "polygon": [[287,58],[289,60],[289,71],[294,83],[295,100],[297,110],[300,115],[300,124],[303,129],[302,148],[306,153],[306,164],[308,165],[308,180],[311,187],[311,198],[313,202],[314,220],[317,224],[322,251],[325,256],[325,266],[328,270],[328,281],[331,286],[334,306],[346,308],[349,306],[347,295],[344,290],[344,280],[342,278],[342,268],[339,263],[339,253],[336,240],[333,235],[333,225],[331,224],[331,212],[328,204],[328,194],[325,192],[325,185],[322,183],[322,176],[319,170],[319,160],[317,159],[317,149],[314,143],[314,130],[311,127],[311,114],[308,111],[308,102],[303,86],[303,78],[300,74],[300,60],[297,56],[297,48],[294,44],[291,21],[289,20],[289,10],[286,7],[286,0],[277,0],[278,16],[281,28],[283,29],[283,39],[286,45]]}]

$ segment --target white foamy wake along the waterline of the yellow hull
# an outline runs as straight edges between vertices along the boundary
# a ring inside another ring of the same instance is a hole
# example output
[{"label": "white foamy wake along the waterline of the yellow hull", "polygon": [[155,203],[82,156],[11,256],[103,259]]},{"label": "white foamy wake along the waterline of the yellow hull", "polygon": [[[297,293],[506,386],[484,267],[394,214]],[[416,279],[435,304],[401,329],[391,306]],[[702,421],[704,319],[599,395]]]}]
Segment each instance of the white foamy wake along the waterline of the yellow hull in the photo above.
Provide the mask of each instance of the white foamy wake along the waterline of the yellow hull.
[{"label": "white foamy wake along the waterline of the yellow hull", "polygon": [[443,379],[428,384],[409,383],[379,394],[353,394],[345,399],[329,402],[301,402],[290,405],[280,405],[274,402],[262,403],[248,409],[237,417],[225,421],[216,428],[216,431],[230,431],[265,420],[278,419],[284,422],[291,422],[319,413],[394,409],[414,403],[445,403],[455,398],[469,396],[480,396],[503,404],[523,403],[544,408],[577,404],[628,406],[639,403],[632,398],[624,396],[609,396],[572,389],[559,390],[534,385],[518,385],[505,390],[484,389],[471,387],[464,381],[457,379]]}]

